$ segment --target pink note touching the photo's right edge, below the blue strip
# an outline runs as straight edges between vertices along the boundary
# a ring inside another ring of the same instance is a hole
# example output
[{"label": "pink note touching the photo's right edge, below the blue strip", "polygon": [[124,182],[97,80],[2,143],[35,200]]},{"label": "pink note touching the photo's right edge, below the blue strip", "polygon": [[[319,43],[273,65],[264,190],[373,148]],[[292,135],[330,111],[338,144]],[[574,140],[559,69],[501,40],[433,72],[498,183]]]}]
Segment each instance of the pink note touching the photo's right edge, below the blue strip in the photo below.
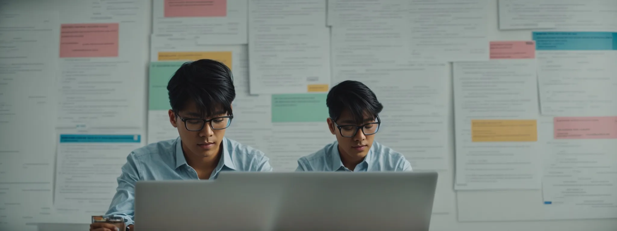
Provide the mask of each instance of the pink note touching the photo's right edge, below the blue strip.
[{"label": "pink note touching the photo's right edge, below the blue strip", "polygon": [[617,116],[555,117],[555,139],[617,139]]}]

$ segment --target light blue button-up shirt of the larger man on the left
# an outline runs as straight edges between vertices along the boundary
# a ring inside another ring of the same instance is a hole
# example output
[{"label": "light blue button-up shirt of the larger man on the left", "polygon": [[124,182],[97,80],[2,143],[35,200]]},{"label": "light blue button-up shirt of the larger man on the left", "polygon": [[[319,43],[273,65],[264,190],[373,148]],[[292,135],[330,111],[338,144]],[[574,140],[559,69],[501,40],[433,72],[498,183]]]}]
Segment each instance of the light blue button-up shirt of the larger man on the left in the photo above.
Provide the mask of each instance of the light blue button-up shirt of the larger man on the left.
[{"label": "light blue button-up shirt of the larger man on the left", "polygon": [[[210,179],[220,171],[272,171],[263,152],[223,138],[223,152]],[[126,225],[134,224],[135,184],[138,180],[197,180],[197,172],[186,163],[180,137],[138,148],[126,157],[118,187],[107,215],[122,216]]]}]

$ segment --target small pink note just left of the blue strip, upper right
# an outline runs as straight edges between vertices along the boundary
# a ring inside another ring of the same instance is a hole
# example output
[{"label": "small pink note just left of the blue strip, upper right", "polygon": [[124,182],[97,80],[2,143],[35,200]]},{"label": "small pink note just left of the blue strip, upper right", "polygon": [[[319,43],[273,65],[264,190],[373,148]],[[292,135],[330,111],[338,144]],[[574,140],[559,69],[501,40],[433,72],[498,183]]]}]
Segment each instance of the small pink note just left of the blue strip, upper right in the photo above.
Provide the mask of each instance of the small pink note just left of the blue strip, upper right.
[{"label": "small pink note just left of the blue strip, upper right", "polygon": [[491,59],[534,59],[535,41],[495,41],[491,42]]}]

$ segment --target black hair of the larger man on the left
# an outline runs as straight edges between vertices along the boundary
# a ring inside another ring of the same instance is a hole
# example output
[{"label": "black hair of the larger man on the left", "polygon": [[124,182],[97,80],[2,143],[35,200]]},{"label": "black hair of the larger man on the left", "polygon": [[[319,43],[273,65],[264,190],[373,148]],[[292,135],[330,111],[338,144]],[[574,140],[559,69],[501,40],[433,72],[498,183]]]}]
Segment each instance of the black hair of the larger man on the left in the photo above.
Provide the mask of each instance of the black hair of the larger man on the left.
[{"label": "black hair of the larger man on the left", "polygon": [[175,113],[192,101],[204,118],[217,112],[233,115],[231,102],[236,98],[236,89],[230,68],[221,62],[201,59],[184,63],[169,80],[167,91]]}]

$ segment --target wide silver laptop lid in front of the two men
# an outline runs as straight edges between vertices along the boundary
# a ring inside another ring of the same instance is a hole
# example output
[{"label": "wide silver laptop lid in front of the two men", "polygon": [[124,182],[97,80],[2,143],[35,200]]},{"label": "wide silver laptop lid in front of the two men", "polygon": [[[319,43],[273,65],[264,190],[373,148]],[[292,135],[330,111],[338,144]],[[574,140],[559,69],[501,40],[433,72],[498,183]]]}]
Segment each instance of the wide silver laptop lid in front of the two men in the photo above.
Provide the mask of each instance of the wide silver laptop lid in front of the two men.
[{"label": "wide silver laptop lid in front of the two men", "polygon": [[221,172],[217,180],[144,181],[146,230],[428,231],[436,172]]}]

